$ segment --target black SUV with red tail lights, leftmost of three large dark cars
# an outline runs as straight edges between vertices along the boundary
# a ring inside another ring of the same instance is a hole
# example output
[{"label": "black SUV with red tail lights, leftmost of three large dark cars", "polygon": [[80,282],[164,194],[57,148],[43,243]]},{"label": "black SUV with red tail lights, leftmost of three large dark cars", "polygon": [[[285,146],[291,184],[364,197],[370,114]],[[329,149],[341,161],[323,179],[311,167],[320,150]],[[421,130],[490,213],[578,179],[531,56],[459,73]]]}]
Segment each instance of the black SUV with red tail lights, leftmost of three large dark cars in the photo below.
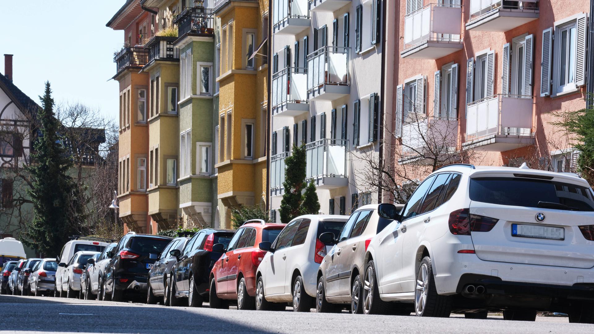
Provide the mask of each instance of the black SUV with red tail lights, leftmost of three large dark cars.
[{"label": "black SUV with red tail lights, leftmost of three large dark cars", "polygon": [[146,292],[149,269],[171,240],[134,232],[124,235],[105,268],[103,300],[122,301],[127,291]]}]

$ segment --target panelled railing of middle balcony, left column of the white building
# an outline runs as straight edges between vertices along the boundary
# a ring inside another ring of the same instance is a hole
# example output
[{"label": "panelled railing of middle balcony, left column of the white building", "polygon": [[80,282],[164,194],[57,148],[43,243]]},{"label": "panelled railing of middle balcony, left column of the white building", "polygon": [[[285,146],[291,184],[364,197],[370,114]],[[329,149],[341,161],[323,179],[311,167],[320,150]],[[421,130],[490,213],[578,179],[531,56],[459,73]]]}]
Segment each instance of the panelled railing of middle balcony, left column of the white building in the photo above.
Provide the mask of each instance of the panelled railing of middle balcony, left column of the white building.
[{"label": "panelled railing of middle balcony, left column of the white building", "polygon": [[272,75],[273,109],[283,109],[287,103],[307,103],[306,72],[303,67],[287,67]]}]

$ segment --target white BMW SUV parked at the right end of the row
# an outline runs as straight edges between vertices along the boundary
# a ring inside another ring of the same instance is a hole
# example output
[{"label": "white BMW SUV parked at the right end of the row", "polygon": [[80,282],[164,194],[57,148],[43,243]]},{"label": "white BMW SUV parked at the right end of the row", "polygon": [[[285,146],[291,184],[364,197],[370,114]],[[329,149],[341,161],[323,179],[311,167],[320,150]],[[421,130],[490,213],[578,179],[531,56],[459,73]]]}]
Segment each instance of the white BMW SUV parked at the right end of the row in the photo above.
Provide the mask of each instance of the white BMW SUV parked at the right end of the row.
[{"label": "white BMW SUV parked at the right end of the row", "polygon": [[594,193],[577,175],[449,165],[394,219],[366,254],[372,310],[394,301],[418,316],[556,311],[594,323]]}]

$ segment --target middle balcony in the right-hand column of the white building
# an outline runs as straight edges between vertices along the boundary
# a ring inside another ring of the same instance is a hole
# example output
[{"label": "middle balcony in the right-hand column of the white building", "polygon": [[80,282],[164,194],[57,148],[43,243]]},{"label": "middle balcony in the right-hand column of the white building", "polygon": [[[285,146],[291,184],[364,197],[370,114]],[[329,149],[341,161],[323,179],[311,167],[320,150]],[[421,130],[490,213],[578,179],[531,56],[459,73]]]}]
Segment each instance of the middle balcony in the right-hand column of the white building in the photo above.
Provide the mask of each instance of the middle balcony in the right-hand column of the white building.
[{"label": "middle balcony in the right-hand column of the white building", "polygon": [[323,46],[307,56],[308,100],[333,101],[350,94],[349,51]]}]

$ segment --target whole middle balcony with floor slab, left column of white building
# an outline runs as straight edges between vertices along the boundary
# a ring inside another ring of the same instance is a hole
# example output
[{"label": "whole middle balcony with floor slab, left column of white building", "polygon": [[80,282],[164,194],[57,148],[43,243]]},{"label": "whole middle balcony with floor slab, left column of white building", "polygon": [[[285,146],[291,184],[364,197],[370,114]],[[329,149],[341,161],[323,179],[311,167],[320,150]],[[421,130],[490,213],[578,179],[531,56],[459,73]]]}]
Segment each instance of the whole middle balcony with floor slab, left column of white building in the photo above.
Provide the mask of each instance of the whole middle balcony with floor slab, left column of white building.
[{"label": "whole middle balcony with floor slab, left column of white building", "polygon": [[272,75],[272,115],[295,117],[309,111],[305,68],[287,67]]}]

